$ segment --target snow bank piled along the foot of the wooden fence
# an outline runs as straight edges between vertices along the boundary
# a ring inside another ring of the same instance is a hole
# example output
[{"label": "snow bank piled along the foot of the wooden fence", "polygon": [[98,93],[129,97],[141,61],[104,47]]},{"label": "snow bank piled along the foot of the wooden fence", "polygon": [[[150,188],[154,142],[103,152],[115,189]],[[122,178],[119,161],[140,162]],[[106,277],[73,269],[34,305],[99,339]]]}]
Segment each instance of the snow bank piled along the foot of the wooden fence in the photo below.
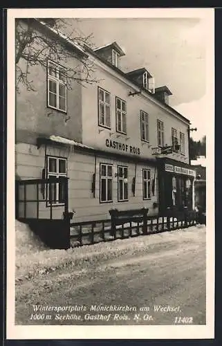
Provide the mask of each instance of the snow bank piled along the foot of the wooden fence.
[{"label": "snow bank piled along the foot of the wooden fence", "polygon": [[[186,241],[187,238],[188,242],[192,241],[205,230],[204,226],[192,226],[182,230],[118,239],[68,250],[52,250],[31,236],[28,226],[21,226],[21,223],[17,222],[17,228],[16,281],[30,280],[35,275],[47,274],[68,266],[75,270],[90,268],[92,264],[101,264],[105,260],[112,260],[122,255],[145,253],[157,244],[164,243],[167,246],[171,242],[177,242],[179,246],[181,240]],[[21,235],[23,232],[24,235]]]}]

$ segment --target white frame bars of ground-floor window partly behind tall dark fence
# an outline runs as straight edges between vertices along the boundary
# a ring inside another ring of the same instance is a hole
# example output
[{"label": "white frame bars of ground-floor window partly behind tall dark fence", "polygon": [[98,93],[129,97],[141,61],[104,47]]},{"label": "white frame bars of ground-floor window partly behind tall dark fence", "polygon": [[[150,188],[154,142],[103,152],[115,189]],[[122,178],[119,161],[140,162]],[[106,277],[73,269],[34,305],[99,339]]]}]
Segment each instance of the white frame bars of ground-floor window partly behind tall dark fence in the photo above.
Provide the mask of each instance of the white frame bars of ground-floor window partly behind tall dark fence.
[{"label": "white frame bars of ground-floor window partly behind tall dark fence", "polygon": [[[49,160],[53,158],[56,161],[56,172],[49,171]],[[59,172],[59,161],[65,161],[66,172]],[[55,178],[67,177],[67,158],[57,157],[57,156],[47,156],[47,179],[50,179],[50,176],[55,176]],[[48,185],[48,184],[47,184]],[[56,202],[50,203],[48,200],[48,187],[47,187],[47,206],[64,206],[64,203],[59,203],[59,183],[56,183]]]}]

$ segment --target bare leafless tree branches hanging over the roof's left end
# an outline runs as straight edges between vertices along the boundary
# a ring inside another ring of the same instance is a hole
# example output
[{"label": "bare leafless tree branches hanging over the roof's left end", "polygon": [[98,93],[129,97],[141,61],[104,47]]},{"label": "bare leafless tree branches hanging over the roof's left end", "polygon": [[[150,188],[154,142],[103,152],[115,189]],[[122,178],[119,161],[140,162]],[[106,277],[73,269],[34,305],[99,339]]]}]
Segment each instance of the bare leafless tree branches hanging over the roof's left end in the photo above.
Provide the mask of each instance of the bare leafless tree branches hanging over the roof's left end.
[{"label": "bare leafless tree branches hanging over the roof's left end", "polygon": [[[46,69],[48,59],[59,63],[67,62],[68,58],[75,56],[80,64],[75,66],[75,69],[67,66],[67,87],[71,89],[73,81],[81,84],[98,82],[93,77],[95,72],[93,62],[84,53],[84,46],[90,45],[92,35],[87,37],[78,35],[75,31],[70,32],[70,27],[71,24],[68,24],[65,19],[16,19],[17,91],[19,91],[20,84],[24,84],[30,91],[35,91],[33,80],[30,78],[31,66],[39,65]],[[64,35],[64,33],[68,33],[68,35]]]}]

